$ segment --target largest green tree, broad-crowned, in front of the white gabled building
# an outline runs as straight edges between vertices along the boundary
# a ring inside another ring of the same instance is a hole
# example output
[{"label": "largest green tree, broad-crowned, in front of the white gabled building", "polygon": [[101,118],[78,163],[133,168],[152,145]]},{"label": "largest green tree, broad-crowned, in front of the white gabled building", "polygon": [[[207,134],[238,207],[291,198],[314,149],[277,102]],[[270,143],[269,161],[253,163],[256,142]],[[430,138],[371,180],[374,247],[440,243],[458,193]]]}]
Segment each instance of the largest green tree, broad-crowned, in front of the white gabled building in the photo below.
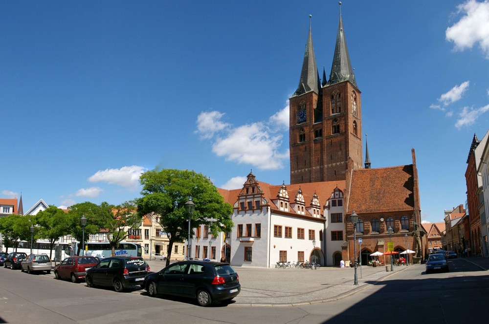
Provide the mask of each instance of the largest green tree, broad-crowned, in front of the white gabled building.
[{"label": "largest green tree, broad-crowned, in front of the white gabled building", "polygon": [[151,170],[141,174],[143,190],[137,198],[140,216],[156,214],[159,224],[169,239],[166,264],[175,242],[183,242],[188,236],[188,214],[185,203],[192,198],[195,210],[191,217],[191,233],[200,225],[209,226],[213,235],[229,232],[233,227],[233,207],[224,201],[217,188],[203,174],[188,170]]}]

